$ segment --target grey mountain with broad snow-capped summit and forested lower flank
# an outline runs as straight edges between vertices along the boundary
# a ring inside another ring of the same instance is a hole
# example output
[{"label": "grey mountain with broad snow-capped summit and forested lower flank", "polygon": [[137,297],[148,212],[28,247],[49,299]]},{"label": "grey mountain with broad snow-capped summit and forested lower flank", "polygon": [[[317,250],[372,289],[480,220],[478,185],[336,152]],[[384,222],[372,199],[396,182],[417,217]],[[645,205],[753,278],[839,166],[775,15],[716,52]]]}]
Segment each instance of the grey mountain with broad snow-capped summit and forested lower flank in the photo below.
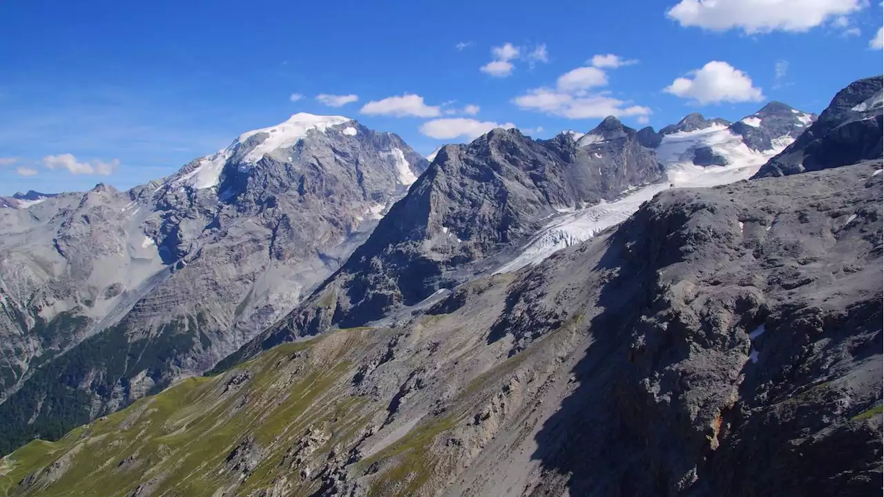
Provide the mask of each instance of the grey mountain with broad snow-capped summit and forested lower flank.
[{"label": "grey mountain with broad snow-capped summit and forested lower flank", "polygon": [[426,165],[393,134],[296,114],[162,181],[0,212],[0,452],[210,369],[338,269]]}]

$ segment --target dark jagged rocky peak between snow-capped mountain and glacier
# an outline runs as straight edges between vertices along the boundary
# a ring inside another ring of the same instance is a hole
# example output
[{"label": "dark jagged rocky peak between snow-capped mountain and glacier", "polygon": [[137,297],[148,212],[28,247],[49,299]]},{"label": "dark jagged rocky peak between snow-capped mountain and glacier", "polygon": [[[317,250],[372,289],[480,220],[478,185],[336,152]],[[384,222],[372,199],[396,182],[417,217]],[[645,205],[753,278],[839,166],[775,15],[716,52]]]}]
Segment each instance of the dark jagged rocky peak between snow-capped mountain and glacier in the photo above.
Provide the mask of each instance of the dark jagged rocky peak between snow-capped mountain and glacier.
[{"label": "dark jagged rocky peak between snow-capped mountain and glacier", "polygon": [[446,146],[334,277],[222,366],[415,305],[497,264],[556,213],[663,178],[652,151],[616,119],[578,141],[496,129],[467,146]]}]

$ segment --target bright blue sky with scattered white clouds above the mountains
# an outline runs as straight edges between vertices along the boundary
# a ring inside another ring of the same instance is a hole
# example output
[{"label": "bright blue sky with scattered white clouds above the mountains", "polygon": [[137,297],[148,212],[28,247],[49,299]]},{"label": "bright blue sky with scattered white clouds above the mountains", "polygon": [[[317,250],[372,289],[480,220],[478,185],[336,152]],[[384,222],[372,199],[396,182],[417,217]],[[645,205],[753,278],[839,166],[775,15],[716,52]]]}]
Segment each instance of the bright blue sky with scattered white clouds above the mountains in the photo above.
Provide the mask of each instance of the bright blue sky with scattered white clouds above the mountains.
[{"label": "bright blue sky with scattered white clouds above the mountains", "polygon": [[131,187],[298,111],[424,154],[495,124],[548,138],[607,113],[659,128],[769,100],[819,112],[881,72],[881,27],[877,0],[12,0],[0,195]]}]

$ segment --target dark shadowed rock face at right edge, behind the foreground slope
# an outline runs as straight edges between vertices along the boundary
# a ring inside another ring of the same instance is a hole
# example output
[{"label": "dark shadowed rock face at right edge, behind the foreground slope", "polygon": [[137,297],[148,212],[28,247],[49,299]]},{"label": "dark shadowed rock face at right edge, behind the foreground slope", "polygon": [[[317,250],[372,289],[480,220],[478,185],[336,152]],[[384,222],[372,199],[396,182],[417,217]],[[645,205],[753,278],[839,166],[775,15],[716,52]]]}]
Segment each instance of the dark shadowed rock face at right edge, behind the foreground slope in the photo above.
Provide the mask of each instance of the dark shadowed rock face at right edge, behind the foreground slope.
[{"label": "dark shadowed rock face at right edge, behind the foreground slope", "polygon": [[819,119],[758,171],[784,176],[884,157],[884,76],[857,80],[834,96]]}]

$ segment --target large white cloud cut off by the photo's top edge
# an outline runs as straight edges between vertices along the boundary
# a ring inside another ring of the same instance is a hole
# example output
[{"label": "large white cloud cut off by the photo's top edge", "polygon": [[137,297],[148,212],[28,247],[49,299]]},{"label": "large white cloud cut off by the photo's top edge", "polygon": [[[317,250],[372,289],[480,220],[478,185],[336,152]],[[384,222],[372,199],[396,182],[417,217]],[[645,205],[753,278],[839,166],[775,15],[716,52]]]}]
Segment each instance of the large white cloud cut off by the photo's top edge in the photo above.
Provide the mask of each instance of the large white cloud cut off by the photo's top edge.
[{"label": "large white cloud cut off by the photo's top edge", "polygon": [[866,0],[681,0],[666,14],[683,27],[713,31],[804,32],[827,19],[860,11],[867,4]]}]

